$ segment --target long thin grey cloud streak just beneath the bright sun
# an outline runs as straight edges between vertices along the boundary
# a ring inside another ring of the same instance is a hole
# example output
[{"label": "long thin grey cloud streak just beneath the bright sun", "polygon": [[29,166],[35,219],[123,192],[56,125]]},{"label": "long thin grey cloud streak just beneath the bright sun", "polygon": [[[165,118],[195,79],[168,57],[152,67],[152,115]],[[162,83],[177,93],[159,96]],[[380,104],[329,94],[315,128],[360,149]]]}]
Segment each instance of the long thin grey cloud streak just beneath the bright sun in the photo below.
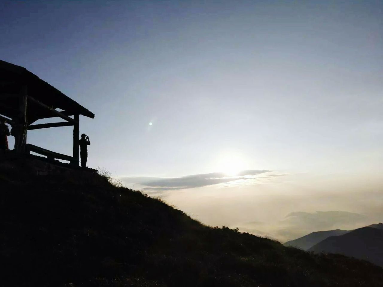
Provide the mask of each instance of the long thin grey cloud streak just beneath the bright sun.
[{"label": "long thin grey cloud streak just beneath the bright sun", "polygon": [[273,177],[278,174],[267,174],[269,170],[245,170],[235,176],[225,173],[191,174],[178,178],[153,178],[153,177],[125,177],[119,178],[125,184],[139,184],[146,191],[168,191],[178,189],[200,188],[214,184],[239,183],[248,184],[258,180],[257,176]]}]

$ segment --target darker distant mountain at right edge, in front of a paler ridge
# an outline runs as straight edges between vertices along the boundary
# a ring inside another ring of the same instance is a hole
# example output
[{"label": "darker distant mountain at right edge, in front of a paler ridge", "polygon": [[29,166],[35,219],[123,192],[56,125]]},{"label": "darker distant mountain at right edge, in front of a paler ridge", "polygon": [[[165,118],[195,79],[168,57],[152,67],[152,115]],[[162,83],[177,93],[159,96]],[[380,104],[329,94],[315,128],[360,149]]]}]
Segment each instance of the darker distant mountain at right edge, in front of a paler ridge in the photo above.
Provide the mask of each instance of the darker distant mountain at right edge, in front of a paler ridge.
[{"label": "darker distant mountain at right edge, in front of a paler ridge", "polygon": [[362,227],[344,235],[331,236],[309,251],[344,254],[383,267],[383,229]]}]

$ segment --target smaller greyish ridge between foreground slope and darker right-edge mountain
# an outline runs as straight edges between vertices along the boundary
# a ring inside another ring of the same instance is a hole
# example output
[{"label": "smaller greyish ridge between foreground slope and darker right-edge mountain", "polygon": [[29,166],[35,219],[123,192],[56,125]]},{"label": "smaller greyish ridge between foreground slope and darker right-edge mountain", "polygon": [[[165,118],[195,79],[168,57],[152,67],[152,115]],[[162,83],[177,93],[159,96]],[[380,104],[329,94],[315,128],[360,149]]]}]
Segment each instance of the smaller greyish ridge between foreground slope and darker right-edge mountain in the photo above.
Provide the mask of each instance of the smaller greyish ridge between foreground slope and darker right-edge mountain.
[{"label": "smaller greyish ridge between foreground slope and darker right-edge mountain", "polygon": [[317,243],[321,242],[322,240],[326,239],[330,236],[338,236],[343,235],[347,232],[350,232],[349,230],[327,230],[327,231],[317,231],[317,232],[311,232],[308,235],[304,235],[300,238],[297,238],[295,240],[287,241],[283,243],[285,246],[292,246],[295,248],[300,248],[303,250],[308,250]]}]

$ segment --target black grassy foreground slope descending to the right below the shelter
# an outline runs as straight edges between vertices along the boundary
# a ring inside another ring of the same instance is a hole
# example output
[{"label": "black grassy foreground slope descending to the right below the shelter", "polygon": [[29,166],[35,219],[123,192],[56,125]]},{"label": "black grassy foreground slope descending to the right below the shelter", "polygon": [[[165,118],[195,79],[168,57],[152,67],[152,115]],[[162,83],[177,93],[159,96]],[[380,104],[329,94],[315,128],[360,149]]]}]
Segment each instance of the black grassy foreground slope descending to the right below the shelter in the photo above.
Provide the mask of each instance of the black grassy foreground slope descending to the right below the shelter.
[{"label": "black grassy foreground slope descending to the right below the shelter", "polygon": [[342,255],[211,228],[105,177],[0,170],[2,286],[383,286]]}]

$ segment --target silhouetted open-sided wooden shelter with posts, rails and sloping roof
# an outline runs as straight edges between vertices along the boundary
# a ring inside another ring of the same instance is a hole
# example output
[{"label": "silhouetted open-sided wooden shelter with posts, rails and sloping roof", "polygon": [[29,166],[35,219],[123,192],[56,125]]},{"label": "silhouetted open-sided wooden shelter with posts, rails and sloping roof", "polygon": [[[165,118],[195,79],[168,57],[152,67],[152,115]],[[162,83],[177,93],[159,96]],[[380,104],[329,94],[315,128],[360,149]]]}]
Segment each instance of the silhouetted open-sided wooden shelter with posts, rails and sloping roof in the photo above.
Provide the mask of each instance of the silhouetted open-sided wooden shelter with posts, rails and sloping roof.
[{"label": "silhouetted open-sided wooden shelter with posts, rails and sloping roof", "polygon": [[[95,116],[26,68],[0,60],[0,118],[7,119],[11,125],[23,122],[25,129],[25,137],[18,152],[36,152],[79,166],[80,115],[92,119]],[[60,117],[65,122],[33,124],[39,119],[51,117]],[[73,126],[72,156],[26,143],[27,130],[64,126]]]}]

